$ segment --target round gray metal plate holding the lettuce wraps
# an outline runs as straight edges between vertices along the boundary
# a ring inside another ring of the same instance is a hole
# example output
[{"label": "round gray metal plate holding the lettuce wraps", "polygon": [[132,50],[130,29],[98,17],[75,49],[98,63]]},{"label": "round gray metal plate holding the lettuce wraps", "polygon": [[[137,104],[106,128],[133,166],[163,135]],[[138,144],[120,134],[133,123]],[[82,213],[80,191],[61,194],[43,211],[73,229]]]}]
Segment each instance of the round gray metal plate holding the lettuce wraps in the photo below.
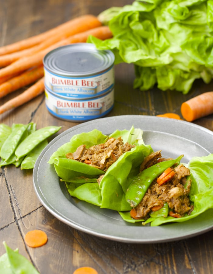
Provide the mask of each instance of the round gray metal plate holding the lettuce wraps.
[{"label": "round gray metal plate holding the lettuce wraps", "polygon": [[[56,218],[71,227],[98,237],[120,242],[156,243],[190,238],[213,228],[213,210],[183,222],[158,227],[130,224],[113,210],[100,209],[71,198],[63,184],[59,184],[53,165],[47,164],[50,156],[70,138],[96,128],[104,134],[131,126],[141,128],[145,144],[154,151],[162,150],[165,157],[176,158],[184,154],[181,162],[194,156],[212,153],[213,133],[204,127],[181,120],[155,116],[126,115],[101,118],[72,127],[54,138],[42,151],[33,169],[33,183],[40,202]],[[212,216],[212,217],[210,217]]]}]

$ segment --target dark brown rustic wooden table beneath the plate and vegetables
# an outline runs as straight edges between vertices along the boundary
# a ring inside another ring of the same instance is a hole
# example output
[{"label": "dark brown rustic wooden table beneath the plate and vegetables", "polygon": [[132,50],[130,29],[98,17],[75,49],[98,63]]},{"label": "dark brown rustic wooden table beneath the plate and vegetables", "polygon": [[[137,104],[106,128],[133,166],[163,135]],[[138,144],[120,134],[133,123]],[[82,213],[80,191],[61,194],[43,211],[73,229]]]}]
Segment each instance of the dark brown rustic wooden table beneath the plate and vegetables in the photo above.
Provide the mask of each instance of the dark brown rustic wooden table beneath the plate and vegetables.
[{"label": "dark brown rustic wooden table beneath the plate and vegetables", "polygon": [[[113,5],[131,1],[117,0],[0,0],[0,45],[6,45],[41,33],[72,17],[100,12]],[[157,88],[141,92],[133,89],[134,68],[131,64],[115,66],[115,106],[107,115],[157,115],[174,112],[180,105],[200,93],[211,91],[213,82],[196,81],[192,90],[162,92]],[[27,88],[27,87],[26,87]],[[1,104],[26,88],[1,99]],[[48,113],[44,94],[0,116],[0,123],[37,123],[63,126],[62,131],[77,125]],[[194,121],[213,130],[213,116]],[[68,274],[81,266],[92,266],[101,273],[199,273],[213,272],[213,231],[181,241],[156,244],[129,244],[99,238],[77,231],[51,215],[39,202],[33,189],[32,170],[13,165],[0,170],[0,255],[5,253],[2,241],[31,261],[41,274]],[[40,248],[29,248],[24,242],[27,231],[41,229],[48,242]]]}]

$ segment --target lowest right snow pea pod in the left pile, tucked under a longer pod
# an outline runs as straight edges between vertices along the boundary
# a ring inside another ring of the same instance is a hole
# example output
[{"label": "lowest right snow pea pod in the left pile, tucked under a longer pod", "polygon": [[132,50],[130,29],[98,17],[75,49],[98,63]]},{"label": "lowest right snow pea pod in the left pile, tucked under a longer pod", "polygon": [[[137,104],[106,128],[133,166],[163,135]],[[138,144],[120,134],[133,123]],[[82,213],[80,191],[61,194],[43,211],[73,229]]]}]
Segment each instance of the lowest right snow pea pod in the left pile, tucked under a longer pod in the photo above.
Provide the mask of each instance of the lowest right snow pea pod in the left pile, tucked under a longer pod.
[{"label": "lowest right snow pea pod in the left pile, tucked under a longer pod", "polygon": [[[33,169],[35,162],[40,155],[41,151],[47,146],[47,140],[38,144],[32,151],[30,151],[21,162],[21,169]],[[22,159],[22,157],[20,158]]]}]

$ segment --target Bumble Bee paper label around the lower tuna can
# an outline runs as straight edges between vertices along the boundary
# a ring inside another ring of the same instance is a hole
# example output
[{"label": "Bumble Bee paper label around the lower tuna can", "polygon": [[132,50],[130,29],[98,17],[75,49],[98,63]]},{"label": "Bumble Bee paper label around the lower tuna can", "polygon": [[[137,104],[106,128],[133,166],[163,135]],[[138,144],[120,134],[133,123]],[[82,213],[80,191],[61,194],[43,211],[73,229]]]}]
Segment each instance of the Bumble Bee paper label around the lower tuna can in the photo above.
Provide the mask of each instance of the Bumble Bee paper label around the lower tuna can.
[{"label": "Bumble Bee paper label around the lower tuna can", "polygon": [[62,119],[83,122],[105,116],[114,106],[114,88],[104,95],[89,99],[65,99],[45,88],[48,111]]}]

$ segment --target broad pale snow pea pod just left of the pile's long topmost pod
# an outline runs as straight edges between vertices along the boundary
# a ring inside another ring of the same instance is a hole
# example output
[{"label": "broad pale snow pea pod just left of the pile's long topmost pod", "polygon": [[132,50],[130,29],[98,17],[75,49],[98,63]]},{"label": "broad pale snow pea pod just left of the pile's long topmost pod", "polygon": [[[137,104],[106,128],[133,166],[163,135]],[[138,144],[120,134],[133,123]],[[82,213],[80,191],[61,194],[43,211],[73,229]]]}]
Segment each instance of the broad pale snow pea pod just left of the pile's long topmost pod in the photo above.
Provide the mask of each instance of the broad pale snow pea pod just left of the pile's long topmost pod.
[{"label": "broad pale snow pea pod just left of the pile's long topmost pod", "polygon": [[23,134],[26,132],[26,129],[28,127],[28,124],[13,124],[12,125],[12,132],[8,136],[8,138],[5,140],[5,142],[2,145],[0,156],[1,158],[5,159],[7,161],[9,157],[14,153],[16,150],[16,147],[19,144],[19,141],[23,137]]}]

